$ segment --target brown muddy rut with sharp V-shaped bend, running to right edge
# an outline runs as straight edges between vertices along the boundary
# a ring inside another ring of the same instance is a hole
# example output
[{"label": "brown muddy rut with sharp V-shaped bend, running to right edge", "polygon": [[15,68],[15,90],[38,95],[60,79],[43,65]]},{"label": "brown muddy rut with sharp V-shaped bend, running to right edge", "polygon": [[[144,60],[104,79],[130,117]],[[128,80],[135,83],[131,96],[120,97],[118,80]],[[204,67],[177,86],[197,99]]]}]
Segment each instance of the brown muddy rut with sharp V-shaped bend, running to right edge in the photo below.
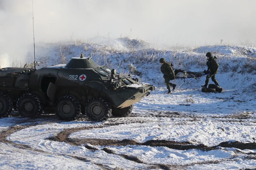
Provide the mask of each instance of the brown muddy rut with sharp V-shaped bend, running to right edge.
[{"label": "brown muddy rut with sharp V-shaped bend, running to right edge", "polygon": [[101,126],[89,126],[89,127],[80,127],[80,128],[73,128],[73,129],[65,129],[58,133],[56,136],[48,138],[49,140],[54,140],[58,142],[67,142],[71,145],[84,145],[86,143],[90,143],[91,145],[99,145],[99,146],[127,146],[127,145],[142,145],[142,146],[151,146],[151,147],[167,147],[170,149],[177,149],[177,150],[189,150],[189,149],[198,149],[202,151],[210,151],[216,150],[219,147],[223,148],[237,148],[237,149],[256,149],[256,143],[242,143],[238,141],[234,142],[222,142],[219,145],[208,147],[203,144],[193,145],[193,143],[189,141],[184,142],[176,142],[176,141],[169,141],[169,140],[148,140],[146,142],[137,142],[132,139],[123,139],[123,140],[113,140],[113,139],[97,139],[97,138],[82,138],[82,139],[71,139],[68,136],[71,133],[75,133],[78,131],[83,130],[90,130],[90,129],[100,129],[109,126],[115,126],[124,123],[118,124],[105,124]]}]

